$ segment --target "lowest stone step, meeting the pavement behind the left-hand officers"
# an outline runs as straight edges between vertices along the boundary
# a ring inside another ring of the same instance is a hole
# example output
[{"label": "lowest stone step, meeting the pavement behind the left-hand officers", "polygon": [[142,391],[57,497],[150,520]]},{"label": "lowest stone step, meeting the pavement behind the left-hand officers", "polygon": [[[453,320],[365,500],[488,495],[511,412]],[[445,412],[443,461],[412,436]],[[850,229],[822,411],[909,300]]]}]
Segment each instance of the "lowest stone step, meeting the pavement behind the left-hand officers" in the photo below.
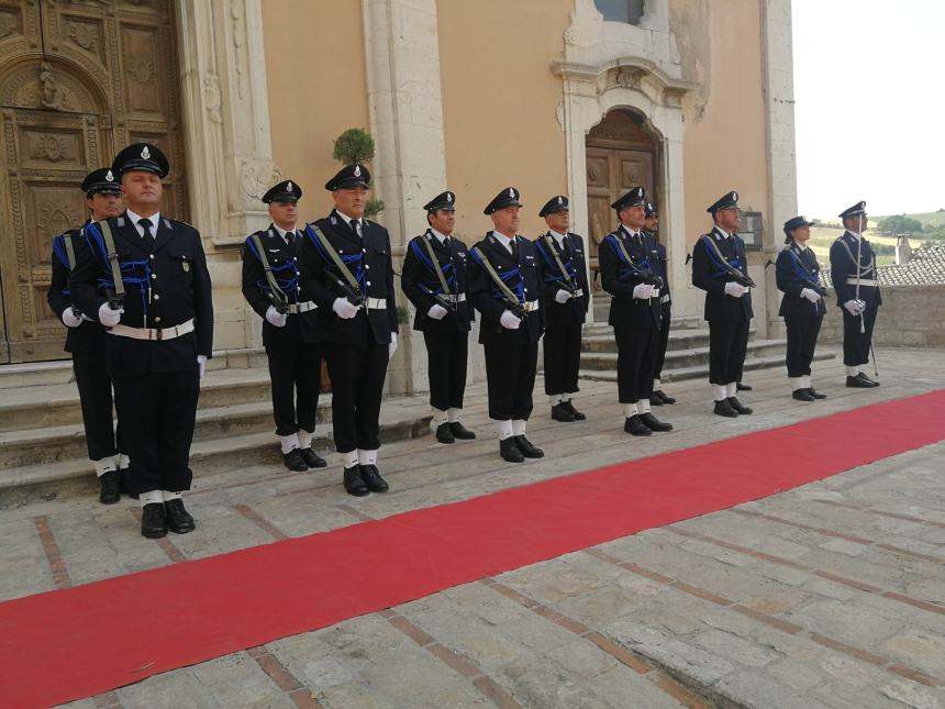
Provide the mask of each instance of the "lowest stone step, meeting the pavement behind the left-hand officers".
[{"label": "lowest stone step, meeting the pavement behind the left-hand officers", "polygon": [[[425,409],[425,407],[424,407]],[[408,411],[408,413],[404,413]],[[429,416],[414,416],[414,408],[399,407],[394,401],[385,403],[381,410],[380,440],[382,443],[405,441],[430,433]],[[270,412],[271,424],[271,412]],[[340,474],[341,463],[333,453],[331,425],[320,425],[315,432],[313,447],[329,458],[332,474]],[[190,448],[190,467],[194,472],[197,485],[200,476],[212,475],[233,468],[249,468],[255,465],[274,465],[274,473],[289,473],[282,467],[281,451],[271,430],[242,435],[226,435],[194,441]],[[310,470],[320,473],[321,470]],[[40,463],[11,467],[0,472],[0,509],[21,507],[45,499],[64,499],[75,496],[91,496],[98,490],[98,481],[82,457],[63,458],[51,463]]]}]

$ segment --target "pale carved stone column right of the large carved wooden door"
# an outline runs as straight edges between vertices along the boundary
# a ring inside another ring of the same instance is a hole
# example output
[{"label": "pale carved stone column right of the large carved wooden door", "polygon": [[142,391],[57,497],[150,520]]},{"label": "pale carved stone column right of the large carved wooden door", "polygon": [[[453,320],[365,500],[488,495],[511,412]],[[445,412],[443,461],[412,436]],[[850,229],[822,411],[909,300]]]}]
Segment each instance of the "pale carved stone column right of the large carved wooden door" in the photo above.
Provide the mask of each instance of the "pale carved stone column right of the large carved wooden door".
[{"label": "pale carved stone column right of the large carved wooden door", "polygon": [[277,179],[260,0],[181,0],[177,21],[189,197],[213,279],[214,348],[238,351],[259,343],[240,292],[237,246],[268,223],[259,198]]}]

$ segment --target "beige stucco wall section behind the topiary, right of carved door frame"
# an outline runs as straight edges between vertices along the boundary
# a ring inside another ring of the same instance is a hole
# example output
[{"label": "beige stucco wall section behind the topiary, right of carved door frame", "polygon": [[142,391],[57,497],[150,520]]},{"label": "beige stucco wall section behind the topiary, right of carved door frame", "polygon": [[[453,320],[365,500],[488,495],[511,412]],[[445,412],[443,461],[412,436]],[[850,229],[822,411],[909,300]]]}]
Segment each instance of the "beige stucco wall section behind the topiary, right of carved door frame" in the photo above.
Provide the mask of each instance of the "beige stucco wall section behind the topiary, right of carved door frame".
[{"label": "beige stucco wall section behind the topiary, right of carved door frame", "polygon": [[299,213],[311,221],[331,209],[334,140],[369,128],[362,3],[266,0],[263,30],[273,159],[301,185]]}]

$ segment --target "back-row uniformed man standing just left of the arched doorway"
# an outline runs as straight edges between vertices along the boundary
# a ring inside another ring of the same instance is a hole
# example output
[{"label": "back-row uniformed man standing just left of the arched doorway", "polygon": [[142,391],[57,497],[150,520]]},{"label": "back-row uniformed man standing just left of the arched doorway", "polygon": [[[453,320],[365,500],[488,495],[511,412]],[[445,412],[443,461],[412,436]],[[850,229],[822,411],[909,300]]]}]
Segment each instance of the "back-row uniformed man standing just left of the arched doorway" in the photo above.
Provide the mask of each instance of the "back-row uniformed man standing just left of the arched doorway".
[{"label": "back-row uniformed man standing just left of the arched doorway", "polygon": [[572,398],[580,391],[581,325],[588,311],[583,240],[568,231],[570,209],[564,195],[552,197],[538,212],[548,231],[535,239],[542,257],[545,301],[545,394],[555,421],[583,421]]}]

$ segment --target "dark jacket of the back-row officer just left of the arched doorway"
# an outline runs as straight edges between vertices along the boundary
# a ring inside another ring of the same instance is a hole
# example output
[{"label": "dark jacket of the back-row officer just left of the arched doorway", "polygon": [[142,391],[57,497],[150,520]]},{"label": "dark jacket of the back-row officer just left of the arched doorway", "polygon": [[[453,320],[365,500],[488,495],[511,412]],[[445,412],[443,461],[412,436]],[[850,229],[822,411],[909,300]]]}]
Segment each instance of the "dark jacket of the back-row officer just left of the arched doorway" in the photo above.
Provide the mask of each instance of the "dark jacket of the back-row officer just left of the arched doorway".
[{"label": "dark jacket of the back-row officer just left of the arched doorway", "polygon": [[[552,241],[552,244],[548,244],[548,240]],[[548,233],[535,239],[535,248],[537,248],[538,255],[542,257],[542,268],[545,273],[543,284],[545,325],[554,328],[555,325],[582,323],[587,315],[589,302],[587,256],[585,254],[583,240],[577,234],[568,232],[565,234],[564,248],[559,248],[558,242]],[[562,274],[560,268],[558,268],[558,262],[555,261],[551,250],[554,250],[558,255],[562,265],[567,272],[566,274]],[[581,291],[580,296],[569,298],[564,303],[555,300],[558,290],[574,291],[575,288]]]}]

